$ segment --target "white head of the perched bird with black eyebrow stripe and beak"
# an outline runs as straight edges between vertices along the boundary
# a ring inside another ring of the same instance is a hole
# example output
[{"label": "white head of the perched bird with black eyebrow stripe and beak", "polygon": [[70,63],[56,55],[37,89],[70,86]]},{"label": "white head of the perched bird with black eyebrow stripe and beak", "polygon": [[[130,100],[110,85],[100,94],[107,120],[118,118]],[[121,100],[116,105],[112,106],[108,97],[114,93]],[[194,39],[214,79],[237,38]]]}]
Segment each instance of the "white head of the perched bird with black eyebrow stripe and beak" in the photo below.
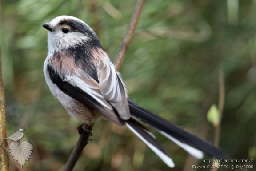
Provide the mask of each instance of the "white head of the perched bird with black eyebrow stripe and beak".
[{"label": "white head of the perched bird with black eyebrow stripe and beak", "polygon": [[57,16],[43,27],[48,30],[49,53],[98,41],[92,28],[73,16]]}]

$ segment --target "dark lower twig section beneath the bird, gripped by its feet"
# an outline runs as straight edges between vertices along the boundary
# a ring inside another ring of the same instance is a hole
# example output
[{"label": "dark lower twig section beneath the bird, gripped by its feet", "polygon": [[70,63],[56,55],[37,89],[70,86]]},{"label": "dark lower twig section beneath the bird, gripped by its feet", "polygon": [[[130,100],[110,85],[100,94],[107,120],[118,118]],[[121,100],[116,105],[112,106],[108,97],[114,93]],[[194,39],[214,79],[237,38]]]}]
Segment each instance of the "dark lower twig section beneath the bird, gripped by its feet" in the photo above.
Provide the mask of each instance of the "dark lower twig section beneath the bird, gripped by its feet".
[{"label": "dark lower twig section beneath the bird, gripped by its feet", "polygon": [[82,125],[82,127],[78,128],[78,131],[80,131],[79,139],[76,143],[76,147],[73,149],[71,155],[68,158],[68,161],[63,169],[63,171],[72,171],[75,167],[75,164],[81,155],[84,147],[88,144],[88,140],[90,135],[92,135],[92,127],[93,125]]}]

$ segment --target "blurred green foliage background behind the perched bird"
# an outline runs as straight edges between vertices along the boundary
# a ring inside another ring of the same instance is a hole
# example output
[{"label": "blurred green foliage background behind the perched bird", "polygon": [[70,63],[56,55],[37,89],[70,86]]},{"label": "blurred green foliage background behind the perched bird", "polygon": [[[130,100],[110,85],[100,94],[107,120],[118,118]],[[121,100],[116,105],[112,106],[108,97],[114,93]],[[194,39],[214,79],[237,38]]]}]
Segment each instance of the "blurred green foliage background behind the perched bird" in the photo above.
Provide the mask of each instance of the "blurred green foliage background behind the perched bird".
[{"label": "blurred green foliage background behind the perched bird", "polygon": [[[12,162],[11,171],[61,171],[79,123],[45,84],[48,50],[42,24],[59,15],[76,16],[95,30],[114,60],[136,0],[1,3],[8,135],[24,126],[25,139],[34,145],[25,167]],[[256,167],[256,0],[148,0],[120,72],[136,103],[212,142],[206,115],[218,104],[220,69],[226,88],[220,147],[233,159],[254,159],[249,164]],[[126,128],[100,119],[92,133],[74,171],[171,170]],[[176,163],[173,170],[209,165],[156,137]]]}]

